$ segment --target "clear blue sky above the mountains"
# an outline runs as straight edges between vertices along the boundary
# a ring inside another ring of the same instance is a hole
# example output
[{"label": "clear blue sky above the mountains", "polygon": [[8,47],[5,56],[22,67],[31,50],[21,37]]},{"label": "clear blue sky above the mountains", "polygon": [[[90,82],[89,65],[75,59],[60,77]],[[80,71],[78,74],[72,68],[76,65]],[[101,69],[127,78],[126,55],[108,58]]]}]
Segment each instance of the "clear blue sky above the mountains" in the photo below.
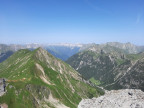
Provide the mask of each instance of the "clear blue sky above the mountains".
[{"label": "clear blue sky above the mountains", "polygon": [[144,45],[144,0],[0,0],[0,43]]}]

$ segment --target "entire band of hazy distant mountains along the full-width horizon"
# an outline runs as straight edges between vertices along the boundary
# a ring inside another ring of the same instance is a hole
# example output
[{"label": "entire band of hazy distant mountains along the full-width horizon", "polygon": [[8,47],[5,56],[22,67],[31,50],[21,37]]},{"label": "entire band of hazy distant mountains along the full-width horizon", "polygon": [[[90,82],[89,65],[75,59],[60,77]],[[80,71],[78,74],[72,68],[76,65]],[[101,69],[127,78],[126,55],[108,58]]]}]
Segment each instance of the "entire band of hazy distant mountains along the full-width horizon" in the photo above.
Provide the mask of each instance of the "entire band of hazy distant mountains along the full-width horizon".
[{"label": "entire band of hazy distant mountains along the full-width horizon", "polygon": [[0,44],[0,62],[4,61],[7,57],[13,54],[13,53],[9,53],[9,51],[15,52],[15,51],[18,51],[19,49],[34,50],[38,47],[42,47],[46,49],[48,52],[50,52],[53,56],[63,61],[66,61],[72,55],[80,51],[83,51],[89,47],[92,47],[93,45],[95,46],[97,45],[98,48],[109,45],[109,46],[122,49],[125,53],[131,53],[131,54],[136,54],[136,53],[144,51],[144,46],[136,46],[131,43],[118,43],[118,42],[109,42],[106,44],[47,44],[47,45],[36,44],[36,43],[25,44],[25,45]]}]

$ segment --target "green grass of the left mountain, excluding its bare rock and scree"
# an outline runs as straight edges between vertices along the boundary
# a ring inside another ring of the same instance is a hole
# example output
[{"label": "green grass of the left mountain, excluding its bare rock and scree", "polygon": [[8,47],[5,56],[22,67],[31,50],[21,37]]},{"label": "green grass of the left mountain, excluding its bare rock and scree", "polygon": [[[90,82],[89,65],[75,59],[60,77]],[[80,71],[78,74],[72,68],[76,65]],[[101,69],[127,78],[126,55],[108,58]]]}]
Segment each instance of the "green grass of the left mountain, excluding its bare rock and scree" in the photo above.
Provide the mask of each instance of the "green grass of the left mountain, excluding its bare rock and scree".
[{"label": "green grass of the left mountain, excluding its bare rock and scree", "polygon": [[[67,76],[75,89],[75,92],[72,93],[65,75],[48,68],[45,63],[37,61],[34,57],[35,51],[20,50],[0,64],[0,77],[8,80],[7,93],[0,97],[0,103],[7,103],[10,108],[37,107],[38,104],[32,91],[28,90],[28,85],[36,87],[36,90],[40,90],[39,88],[42,86],[46,87],[56,99],[71,108],[76,108],[82,98],[103,94],[102,91]],[[36,69],[35,63],[39,63],[43,67],[48,79],[54,85],[48,85],[39,78],[39,71]],[[41,95],[38,96],[41,97]],[[51,103],[45,104],[53,107]]]}]

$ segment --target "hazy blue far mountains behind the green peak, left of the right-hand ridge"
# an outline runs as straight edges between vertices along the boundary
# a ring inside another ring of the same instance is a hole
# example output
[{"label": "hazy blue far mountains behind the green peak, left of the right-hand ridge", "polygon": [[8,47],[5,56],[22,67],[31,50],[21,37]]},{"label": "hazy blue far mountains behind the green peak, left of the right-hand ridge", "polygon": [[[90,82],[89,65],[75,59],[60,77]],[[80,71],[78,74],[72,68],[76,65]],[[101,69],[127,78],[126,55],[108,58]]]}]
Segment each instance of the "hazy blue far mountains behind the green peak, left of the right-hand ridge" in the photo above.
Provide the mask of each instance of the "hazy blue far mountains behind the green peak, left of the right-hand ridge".
[{"label": "hazy blue far mountains behind the green peak, left of the right-hand ridge", "polygon": [[[81,44],[48,44],[48,45],[40,45],[40,44],[26,44],[26,45],[5,45],[0,44],[0,62],[4,61],[12,55],[13,53],[9,53],[10,51],[16,52],[19,49],[30,49],[34,50],[38,47],[42,47],[50,52],[55,57],[65,61],[72,55],[79,52],[80,48],[83,45]],[[5,55],[5,56],[4,56]]]}]

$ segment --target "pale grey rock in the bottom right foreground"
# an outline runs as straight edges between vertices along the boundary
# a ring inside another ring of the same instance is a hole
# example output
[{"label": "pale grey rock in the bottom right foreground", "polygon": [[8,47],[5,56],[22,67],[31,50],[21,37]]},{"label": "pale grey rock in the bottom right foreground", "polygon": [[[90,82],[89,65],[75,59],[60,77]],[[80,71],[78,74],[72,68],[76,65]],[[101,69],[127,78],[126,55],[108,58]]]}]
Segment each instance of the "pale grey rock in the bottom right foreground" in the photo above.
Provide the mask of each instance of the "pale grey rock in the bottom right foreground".
[{"label": "pale grey rock in the bottom right foreground", "polygon": [[112,90],[99,98],[83,99],[78,108],[144,108],[144,92],[134,89]]}]

